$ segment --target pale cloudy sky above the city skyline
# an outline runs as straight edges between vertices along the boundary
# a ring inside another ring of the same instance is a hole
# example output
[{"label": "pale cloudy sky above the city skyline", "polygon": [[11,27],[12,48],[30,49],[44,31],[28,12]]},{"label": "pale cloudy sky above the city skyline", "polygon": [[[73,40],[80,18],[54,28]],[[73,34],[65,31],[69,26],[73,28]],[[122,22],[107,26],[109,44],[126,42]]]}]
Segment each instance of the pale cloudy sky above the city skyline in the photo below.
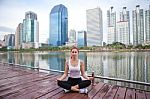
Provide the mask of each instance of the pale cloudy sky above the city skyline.
[{"label": "pale cloudy sky above the city skyline", "polygon": [[3,39],[5,34],[14,34],[18,24],[23,22],[25,12],[32,11],[37,14],[39,21],[39,42],[45,43],[49,37],[49,13],[59,4],[68,8],[68,32],[71,29],[86,31],[86,10],[100,7],[103,16],[103,38],[104,42],[107,42],[107,10],[111,6],[118,17],[124,6],[130,11],[130,15],[136,5],[140,5],[144,11],[147,10],[150,0],[0,0],[0,39]]}]

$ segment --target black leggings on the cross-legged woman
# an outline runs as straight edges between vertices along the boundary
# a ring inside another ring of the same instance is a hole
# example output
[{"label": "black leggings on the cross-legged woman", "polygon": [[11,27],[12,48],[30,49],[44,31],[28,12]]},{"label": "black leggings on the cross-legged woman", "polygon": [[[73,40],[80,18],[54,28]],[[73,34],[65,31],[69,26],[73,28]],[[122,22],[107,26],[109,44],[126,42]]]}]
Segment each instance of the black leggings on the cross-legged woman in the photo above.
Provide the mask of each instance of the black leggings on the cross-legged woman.
[{"label": "black leggings on the cross-legged woman", "polygon": [[82,80],[81,78],[69,77],[67,81],[58,81],[58,86],[71,90],[71,86],[79,85],[79,89],[86,88],[91,84],[90,80]]}]

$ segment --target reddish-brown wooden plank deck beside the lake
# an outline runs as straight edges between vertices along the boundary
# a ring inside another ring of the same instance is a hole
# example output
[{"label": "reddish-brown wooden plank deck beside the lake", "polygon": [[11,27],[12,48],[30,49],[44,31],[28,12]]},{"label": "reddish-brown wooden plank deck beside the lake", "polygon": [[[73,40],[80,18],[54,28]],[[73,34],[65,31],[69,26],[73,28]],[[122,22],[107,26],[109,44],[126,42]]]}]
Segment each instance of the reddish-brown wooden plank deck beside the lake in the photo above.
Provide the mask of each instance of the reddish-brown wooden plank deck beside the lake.
[{"label": "reddish-brown wooden plank deck beside the lake", "polygon": [[150,99],[150,92],[101,82],[88,94],[64,93],[56,83],[60,76],[0,64],[0,99]]}]

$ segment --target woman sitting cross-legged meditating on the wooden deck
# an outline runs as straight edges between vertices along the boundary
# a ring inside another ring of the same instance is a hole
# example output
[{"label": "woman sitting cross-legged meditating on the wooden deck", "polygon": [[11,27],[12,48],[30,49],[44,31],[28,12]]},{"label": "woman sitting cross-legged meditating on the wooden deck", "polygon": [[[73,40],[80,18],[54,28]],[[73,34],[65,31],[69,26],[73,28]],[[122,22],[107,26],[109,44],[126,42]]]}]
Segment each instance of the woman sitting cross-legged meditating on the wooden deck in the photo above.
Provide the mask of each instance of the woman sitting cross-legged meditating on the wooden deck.
[{"label": "woman sitting cross-legged meditating on the wooden deck", "polygon": [[[91,84],[91,80],[93,80],[93,77],[87,77],[85,75],[84,62],[78,59],[79,54],[78,48],[73,47],[71,49],[70,54],[71,54],[70,59],[65,63],[64,74],[60,78],[57,78],[58,86],[66,89],[65,90],[66,92],[71,90],[79,93],[87,93],[88,90],[86,89],[86,87],[88,87]],[[69,72],[68,80],[63,81],[68,76],[68,72]],[[82,80],[81,76],[86,80]]]}]

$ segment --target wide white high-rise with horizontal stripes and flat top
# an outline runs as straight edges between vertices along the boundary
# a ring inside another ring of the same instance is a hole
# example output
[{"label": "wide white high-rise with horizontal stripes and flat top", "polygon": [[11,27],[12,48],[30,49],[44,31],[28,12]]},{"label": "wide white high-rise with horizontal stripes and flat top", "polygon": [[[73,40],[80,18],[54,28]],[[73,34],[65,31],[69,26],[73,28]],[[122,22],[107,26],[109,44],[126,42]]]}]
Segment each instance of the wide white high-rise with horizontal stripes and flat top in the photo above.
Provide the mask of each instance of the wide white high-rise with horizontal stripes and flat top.
[{"label": "wide white high-rise with horizontal stripes and flat top", "polygon": [[102,46],[103,22],[100,8],[88,9],[87,17],[87,46]]}]

